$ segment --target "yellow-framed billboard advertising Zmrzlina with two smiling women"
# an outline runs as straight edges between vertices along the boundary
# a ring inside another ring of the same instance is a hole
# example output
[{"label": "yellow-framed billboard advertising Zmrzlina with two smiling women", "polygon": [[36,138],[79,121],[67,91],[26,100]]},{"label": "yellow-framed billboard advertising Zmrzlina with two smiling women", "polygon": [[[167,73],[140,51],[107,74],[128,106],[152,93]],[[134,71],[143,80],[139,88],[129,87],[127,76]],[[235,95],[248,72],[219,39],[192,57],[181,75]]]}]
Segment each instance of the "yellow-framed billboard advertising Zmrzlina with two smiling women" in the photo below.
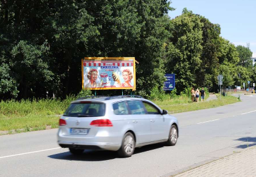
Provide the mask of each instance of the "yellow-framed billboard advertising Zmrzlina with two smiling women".
[{"label": "yellow-framed billboard advertising Zmrzlina with two smiling women", "polygon": [[81,59],[82,88],[136,90],[135,58],[86,57]]}]

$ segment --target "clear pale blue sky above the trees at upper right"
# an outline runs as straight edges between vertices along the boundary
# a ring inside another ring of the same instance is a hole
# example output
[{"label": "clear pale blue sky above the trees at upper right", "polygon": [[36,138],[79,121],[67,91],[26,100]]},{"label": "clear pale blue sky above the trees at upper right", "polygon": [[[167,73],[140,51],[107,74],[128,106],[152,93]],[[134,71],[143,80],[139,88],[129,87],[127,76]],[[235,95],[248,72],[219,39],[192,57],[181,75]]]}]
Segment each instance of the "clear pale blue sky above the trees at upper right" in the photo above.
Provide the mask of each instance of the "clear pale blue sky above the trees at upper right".
[{"label": "clear pale blue sky above the trees at upper right", "polygon": [[181,15],[183,8],[204,16],[213,24],[220,24],[221,36],[233,44],[250,43],[256,57],[256,1],[255,0],[171,0],[176,10],[168,13],[170,18]]}]

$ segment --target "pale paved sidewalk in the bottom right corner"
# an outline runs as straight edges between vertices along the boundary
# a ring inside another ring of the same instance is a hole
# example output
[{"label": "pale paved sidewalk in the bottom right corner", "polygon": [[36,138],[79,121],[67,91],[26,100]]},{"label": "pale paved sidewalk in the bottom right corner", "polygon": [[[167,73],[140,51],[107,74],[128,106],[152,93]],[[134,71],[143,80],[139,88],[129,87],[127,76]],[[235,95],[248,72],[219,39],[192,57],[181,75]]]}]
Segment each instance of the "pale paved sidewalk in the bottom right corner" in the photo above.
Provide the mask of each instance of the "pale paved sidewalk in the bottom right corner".
[{"label": "pale paved sidewalk in the bottom right corner", "polygon": [[180,173],[175,177],[255,177],[256,146],[234,153],[195,169]]}]

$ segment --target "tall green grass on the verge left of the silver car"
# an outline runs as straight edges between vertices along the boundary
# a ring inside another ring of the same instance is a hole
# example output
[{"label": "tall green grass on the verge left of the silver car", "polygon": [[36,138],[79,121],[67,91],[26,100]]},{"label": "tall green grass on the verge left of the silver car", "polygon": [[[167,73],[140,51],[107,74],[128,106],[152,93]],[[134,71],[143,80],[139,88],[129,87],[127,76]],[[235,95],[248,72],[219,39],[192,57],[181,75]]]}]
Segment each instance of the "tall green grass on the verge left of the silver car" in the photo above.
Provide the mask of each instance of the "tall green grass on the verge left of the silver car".
[{"label": "tall green grass on the verge left of the silver car", "polygon": [[1,131],[10,133],[45,130],[58,127],[58,119],[67,109],[74,96],[60,99],[9,100],[0,102],[0,135]]}]

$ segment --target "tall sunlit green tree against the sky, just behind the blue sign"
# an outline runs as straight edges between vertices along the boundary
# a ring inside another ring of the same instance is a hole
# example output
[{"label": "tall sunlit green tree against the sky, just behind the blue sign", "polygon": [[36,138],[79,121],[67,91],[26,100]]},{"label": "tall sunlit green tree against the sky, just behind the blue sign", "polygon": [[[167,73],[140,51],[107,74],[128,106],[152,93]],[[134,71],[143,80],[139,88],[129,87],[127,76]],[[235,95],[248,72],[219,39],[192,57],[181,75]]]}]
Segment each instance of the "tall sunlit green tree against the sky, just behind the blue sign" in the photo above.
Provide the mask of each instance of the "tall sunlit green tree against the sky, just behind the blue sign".
[{"label": "tall sunlit green tree against the sky, just behind the blue sign", "polygon": [[184,8],[181,16],[172,20],[174,29],[168,45],[167,71],[176,74],[176,88],[196,86],[201,65],[202,23],[198,15]]}]

